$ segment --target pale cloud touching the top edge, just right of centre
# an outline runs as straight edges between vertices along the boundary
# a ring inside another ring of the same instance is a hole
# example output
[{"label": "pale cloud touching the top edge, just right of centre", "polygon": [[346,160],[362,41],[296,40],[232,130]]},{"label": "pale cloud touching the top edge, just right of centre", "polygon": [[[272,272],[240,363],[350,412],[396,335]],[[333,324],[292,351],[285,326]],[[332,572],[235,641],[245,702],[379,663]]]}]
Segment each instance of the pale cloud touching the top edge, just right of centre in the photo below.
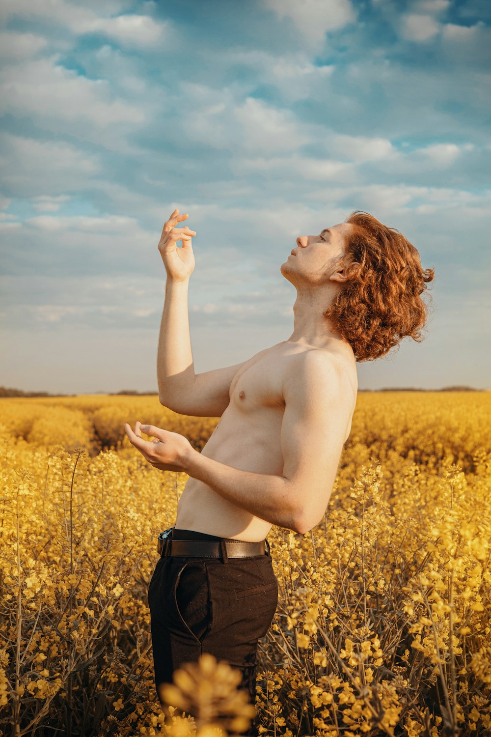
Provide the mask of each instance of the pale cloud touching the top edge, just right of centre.
[{"label": "pale cloud touching the top edge, just right of centre", "polygon": [[306,41],[322,43],[328,31],[345,27],[356,19],[350,0],[265,0],[279,18],[288,17]]}]

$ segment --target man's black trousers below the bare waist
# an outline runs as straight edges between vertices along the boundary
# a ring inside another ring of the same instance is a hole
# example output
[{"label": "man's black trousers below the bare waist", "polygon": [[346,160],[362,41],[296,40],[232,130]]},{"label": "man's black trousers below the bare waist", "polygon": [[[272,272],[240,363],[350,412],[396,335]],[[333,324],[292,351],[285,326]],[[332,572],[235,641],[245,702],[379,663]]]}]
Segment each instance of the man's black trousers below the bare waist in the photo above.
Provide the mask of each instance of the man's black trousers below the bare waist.
[{"label": "man's black trousers below the bare waist", "polygon": [[[174,539],[227,539],[174,529]],[[183,663],[208,652],[239,668],[239,688],[255,703],[259,638],[272,623],[278,581],[268,554],[250,558],[162,557],[149,584],[155,687]],[[255,727],[248,734],[255,735]]]}]

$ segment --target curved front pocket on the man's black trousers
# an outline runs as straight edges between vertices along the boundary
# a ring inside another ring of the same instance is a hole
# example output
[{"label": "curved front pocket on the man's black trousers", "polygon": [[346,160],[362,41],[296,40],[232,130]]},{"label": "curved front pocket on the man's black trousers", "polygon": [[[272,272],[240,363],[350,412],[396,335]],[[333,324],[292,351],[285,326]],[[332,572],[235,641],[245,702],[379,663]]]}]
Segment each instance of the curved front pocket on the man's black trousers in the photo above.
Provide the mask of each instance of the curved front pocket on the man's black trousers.
[{"label": "curved front pocket on the man's black trousers", "polygon": [[180,567],[174,583],[174,605],[186,632],[201,644],[211,629],[211,600],[203,562],[186,562]]}]

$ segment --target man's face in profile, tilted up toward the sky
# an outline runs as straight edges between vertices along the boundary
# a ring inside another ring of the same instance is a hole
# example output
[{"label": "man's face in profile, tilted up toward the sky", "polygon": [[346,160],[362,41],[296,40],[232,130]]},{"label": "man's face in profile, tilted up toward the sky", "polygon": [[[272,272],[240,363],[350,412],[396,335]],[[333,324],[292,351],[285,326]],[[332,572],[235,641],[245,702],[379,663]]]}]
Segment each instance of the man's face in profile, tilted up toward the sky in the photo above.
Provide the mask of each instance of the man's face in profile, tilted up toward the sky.
[{"label": "man's face in profile, tilted up toward the sky", "polygon": [[345,255],[346,237],[352,228],[350,223],[339,223],[317,235],[299,236],[297,247],[281,265],[281,273],[292,284],[327,284],[331,276],[331,282],[341,281],[336,276],[336,266]]}]

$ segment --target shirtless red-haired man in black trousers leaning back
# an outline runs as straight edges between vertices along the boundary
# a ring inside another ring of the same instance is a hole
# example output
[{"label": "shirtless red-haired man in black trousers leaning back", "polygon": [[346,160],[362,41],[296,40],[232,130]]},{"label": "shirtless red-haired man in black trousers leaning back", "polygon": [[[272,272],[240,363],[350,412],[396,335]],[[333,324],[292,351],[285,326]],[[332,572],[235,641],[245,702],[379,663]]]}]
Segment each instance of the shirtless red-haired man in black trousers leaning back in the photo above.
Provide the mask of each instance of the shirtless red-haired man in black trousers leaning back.
[{"label": "shirtless red-haired man in black trousers leaning back", "polygon": [[384,355],[404,335],[418,340],[433,270],[367,213],[298,237],[280,269],[297,289],[292,335],[195,374],[187,296],[196,233],[177,227],[187,217],[174,210],[158,245],[167,272],[160,402],[222,419],[201,453],[178,433],[124,425],[152,466],[190,477],[149,585],[155,682],[159,691],[175,668],[210,652],[241,670],[254,703],[258,639],[278,602],[266,535],[272,525],[305,534],[322,519],[350,434],[356,361]]}]

